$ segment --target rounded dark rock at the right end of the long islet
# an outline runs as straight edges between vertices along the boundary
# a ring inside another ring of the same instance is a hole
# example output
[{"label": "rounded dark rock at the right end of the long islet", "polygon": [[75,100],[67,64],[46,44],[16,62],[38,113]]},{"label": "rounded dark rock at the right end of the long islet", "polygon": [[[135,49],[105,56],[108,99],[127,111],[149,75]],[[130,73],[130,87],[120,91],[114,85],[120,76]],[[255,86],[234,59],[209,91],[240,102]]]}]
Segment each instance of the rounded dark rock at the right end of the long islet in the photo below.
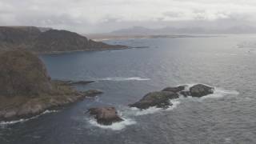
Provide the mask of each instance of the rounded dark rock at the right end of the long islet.
[{"label": "rounded dark rock at the right end of the long islet", "polygon": [[192,97],[202,97],[208,94],[214,94],[214,87],[198,84],[190,87]]}]

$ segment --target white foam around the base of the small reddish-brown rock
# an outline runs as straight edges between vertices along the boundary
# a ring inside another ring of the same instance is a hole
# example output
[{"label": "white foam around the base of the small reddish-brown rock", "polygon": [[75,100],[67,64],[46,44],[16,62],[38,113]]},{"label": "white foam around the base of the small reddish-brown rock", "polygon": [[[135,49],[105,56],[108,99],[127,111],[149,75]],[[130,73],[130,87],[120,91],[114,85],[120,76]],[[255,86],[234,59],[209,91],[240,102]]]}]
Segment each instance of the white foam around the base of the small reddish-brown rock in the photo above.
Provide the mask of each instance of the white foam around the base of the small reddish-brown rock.
[{"label": "white foam around the base of the small reddish-brown rock", "polygon": [[126,128],[126,126],[130,126],[130,125],[136,124],[136,122],[134,120],[130,119],[130,118],[122,118],[122,119],[124,121],[122,121],[122,122],[114,122],[110,126],[104,126],[104,125],[98,124],[98,122],[96,122],[95,119],[90,119],[89,122],[93,126],[97,126],[97,127],[102,128],[102,129],[109,129],[109,130],[122,130],[122,129]]}]

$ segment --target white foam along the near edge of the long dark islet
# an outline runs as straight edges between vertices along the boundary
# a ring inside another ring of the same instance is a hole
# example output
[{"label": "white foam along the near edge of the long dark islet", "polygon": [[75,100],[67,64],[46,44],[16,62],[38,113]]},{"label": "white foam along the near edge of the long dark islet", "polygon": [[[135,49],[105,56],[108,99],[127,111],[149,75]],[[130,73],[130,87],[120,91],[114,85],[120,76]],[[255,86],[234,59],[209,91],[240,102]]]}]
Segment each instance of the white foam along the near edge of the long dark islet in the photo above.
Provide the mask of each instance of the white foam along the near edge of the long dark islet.
[{"label": "white foam along the near edge of the long dark islet", "polygon": [[139,116],[139,115],[146,115],[146,114],[155,114],[161,111],[169,111],[169,110],[174,110],[174,108],[176,108],[180,102],[179,99],[175,99],[175,100],[170,100],[170,102],[173,104],[172,106],[169,106],[167,109],[162,109],[162,108],[158,108],[156,106],[152,106],[146,110],[139,110],[136,107],[131,107],[131,113],[134,114],[135,116]]}]

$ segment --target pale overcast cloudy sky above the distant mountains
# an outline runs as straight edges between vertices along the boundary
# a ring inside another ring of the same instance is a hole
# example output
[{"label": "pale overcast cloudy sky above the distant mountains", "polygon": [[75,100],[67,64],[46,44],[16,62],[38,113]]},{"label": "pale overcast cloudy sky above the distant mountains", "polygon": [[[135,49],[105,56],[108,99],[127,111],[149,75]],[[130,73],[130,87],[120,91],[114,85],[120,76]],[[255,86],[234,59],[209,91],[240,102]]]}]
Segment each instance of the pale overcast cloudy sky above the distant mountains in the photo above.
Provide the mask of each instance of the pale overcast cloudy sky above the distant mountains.
[{"label": "pale overcast cloudy sky above the distant mountains", "polygon": [[0,0],[1,26],[101,33],[146,26],[254,26],[256,0]]}]

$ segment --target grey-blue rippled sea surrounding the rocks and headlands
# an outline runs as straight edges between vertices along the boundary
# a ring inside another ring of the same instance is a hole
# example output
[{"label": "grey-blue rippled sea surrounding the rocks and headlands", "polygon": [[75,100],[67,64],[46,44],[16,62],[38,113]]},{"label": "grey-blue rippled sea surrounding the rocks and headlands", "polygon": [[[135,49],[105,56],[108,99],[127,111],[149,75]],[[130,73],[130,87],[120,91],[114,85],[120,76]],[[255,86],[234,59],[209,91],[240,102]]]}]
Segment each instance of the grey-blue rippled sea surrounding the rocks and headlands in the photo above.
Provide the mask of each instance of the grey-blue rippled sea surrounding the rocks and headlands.
[{"label": "grey-blue rippled sea surrounding the rocks and headlands", "polygon": [[[95,80],[78,90],[104,94],[35,118],[0,123],[1,144],[254,144],[256,36],[106,41],[143,49],[42,55],[53,79]],[[129,108],[166,86],[214,86],[205,98],[178,98],[167,110]],[[125,119],[101,126],[85,114],[115,106]]]}]

